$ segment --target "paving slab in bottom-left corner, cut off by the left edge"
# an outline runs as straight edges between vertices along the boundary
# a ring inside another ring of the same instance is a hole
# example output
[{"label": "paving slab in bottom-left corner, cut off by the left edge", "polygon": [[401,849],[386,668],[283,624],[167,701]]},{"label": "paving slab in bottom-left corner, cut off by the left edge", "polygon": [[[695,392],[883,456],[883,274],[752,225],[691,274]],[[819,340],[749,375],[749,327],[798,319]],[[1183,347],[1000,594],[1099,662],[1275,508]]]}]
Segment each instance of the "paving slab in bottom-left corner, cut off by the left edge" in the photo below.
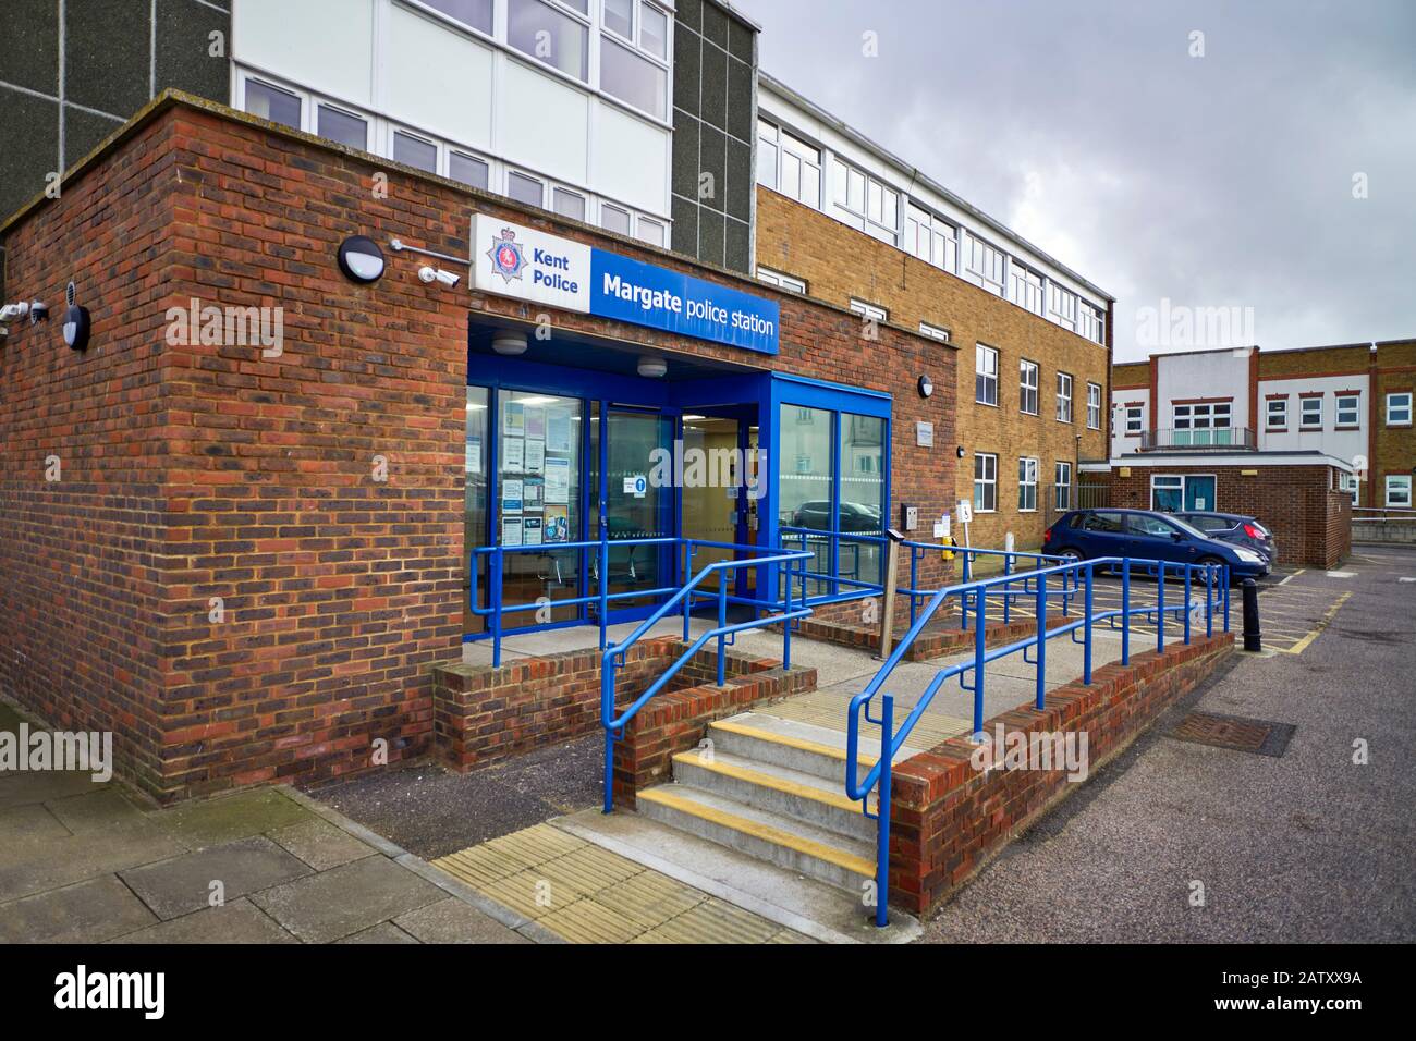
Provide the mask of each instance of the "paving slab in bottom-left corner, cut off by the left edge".
[{"label": "paving slab in bottom-left corner, cut off by the left edge", "polygon": [[102,943],[157,916],[116,875],[0,904],[0,943]]}]

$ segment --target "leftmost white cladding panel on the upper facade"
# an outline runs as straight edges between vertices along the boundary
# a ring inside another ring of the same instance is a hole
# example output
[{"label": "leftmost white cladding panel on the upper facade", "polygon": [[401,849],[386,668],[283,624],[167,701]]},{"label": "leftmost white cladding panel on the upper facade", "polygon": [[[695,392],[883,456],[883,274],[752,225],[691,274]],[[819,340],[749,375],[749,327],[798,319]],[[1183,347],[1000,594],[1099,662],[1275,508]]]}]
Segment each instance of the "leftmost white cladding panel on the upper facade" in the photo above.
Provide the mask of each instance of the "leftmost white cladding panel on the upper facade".
[{"label": "leftmost white cladding panel on the upper facade", "polygon": [[238,0],[231,18],[238,64],[371,106],[374,0]]}]

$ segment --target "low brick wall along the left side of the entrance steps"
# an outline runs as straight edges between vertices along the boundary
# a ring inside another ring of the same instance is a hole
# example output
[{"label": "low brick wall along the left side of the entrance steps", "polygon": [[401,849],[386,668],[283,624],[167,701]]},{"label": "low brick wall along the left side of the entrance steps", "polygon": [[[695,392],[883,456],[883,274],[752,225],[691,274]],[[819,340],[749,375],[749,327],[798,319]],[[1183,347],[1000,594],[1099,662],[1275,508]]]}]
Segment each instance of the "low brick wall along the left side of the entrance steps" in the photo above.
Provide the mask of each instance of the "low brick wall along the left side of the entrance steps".
[{"label": "low brick wall along the left side of the entrance steps", "polygon": [[[700,654],[701,660],[704,654]],[[714,657],[709,657],[714,669]],[[708,724],[753,705],[780,701],[792,694],[816,690],[816,670],[758,659],[765,666],[739,673],[719,687],[716,676],[695,687],[661,694],[644,705],[615,744],[615,804],[634,809],[634,793],[673,776],[674,755],[698,746],[708,736]]]}]

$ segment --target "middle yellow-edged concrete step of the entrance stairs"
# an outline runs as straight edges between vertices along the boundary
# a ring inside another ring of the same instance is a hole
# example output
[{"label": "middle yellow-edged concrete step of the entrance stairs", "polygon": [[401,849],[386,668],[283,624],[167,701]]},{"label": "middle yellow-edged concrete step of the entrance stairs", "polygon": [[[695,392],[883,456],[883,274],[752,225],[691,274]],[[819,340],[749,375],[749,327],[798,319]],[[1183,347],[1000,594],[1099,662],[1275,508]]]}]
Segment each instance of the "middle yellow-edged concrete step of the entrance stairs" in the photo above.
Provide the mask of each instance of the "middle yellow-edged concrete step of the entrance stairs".
[{"label": "middle yellow-edged concrete step of the entrance stairs", "polygon": [[[875,821],[861,813],[860,802],[847,797],[844,782],[803,773],[760,759],[748,759],[714,746],[674,756],[674,780],[714,792],[759,810],[800,820],[865,843],[875,841]],[[871,795],[871,812],[877,799]]]}]

